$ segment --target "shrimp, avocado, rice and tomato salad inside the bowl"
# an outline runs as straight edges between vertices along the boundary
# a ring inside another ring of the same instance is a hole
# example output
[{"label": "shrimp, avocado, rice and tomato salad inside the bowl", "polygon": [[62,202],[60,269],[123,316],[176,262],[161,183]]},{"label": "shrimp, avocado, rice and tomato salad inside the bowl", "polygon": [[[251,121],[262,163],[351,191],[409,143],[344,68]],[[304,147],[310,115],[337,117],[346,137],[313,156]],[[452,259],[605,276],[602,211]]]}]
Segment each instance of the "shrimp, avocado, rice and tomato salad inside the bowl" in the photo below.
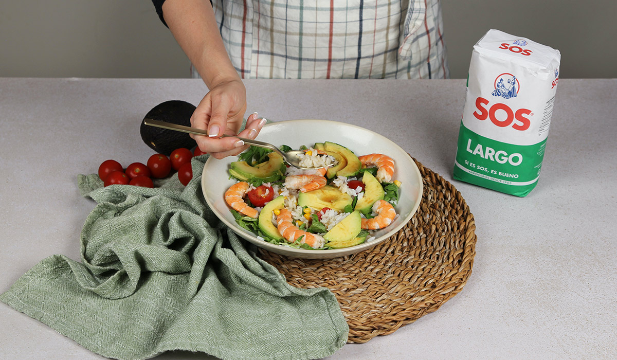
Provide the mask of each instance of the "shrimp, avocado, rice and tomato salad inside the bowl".
[{"label": "shrimp, avocado, rice and tomato salad inside the bowl", "polygon": [[[281,146],[289,151],[289,146]],[[239,226],[273,245],[342,249],[375,240],[397,216],[401,182],[387,154],[357,156],[332,141],[303,146],[300,165],[252,146],[231,162],[225,202]]]}]

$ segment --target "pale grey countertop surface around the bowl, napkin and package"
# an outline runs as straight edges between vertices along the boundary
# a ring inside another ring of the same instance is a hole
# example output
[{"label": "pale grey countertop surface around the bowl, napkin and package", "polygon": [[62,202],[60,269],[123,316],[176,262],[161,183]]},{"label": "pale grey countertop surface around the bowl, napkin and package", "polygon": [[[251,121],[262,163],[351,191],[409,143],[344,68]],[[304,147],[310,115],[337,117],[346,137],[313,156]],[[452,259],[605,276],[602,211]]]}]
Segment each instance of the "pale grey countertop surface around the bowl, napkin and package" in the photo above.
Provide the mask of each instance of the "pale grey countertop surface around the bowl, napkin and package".
[{"label": "pale grey countertop surface around the bowl, napkin and package", "polygon": [[[247,114],[328,119],[387,136],[457,187],[476,221],[465,288],[438,311],[331,359],[617,358],[617,80],[561,80],[542,175],[526,198],[452,180],[465,80],[247,80]],[[52,254],[80,259],[94,203],[77,174],[145,162],[156,104],[193,79],[0,78],[0,292]],[[101,359],[0,303],[0,359]],[[204,359],[176,351],[157,359]]]}]

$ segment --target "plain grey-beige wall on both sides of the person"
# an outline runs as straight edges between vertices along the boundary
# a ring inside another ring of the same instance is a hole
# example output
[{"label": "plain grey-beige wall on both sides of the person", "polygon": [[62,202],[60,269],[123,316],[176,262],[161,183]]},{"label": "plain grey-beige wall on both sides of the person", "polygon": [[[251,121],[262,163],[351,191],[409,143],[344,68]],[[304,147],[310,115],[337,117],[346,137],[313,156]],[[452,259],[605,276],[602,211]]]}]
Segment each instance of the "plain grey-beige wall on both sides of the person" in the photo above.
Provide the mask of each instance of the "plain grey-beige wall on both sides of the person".
[{"label": "plain grey-beige wall on both sides of the person", "polygon": [[[442,0],[452,78],[490,28],[561,51],[562,78],[617,77],[615,0]],[[148,0],[0,0],[0,77],[189,77]]]}]

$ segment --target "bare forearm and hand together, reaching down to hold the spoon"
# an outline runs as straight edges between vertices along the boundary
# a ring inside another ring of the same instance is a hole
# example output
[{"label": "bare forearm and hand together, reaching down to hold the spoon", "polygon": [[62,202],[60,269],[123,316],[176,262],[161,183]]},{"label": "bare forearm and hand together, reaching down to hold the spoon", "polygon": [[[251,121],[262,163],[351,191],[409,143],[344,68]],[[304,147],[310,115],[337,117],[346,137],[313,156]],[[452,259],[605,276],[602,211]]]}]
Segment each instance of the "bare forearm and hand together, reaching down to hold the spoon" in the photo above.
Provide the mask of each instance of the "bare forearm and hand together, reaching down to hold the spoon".
[{"label": "bare forearm and hand together, reaching down to hold the spoon", "polygon": [[167,0],[162,9],[174,38],[210,90],[191,117],[191,125],[207,130],[210,136],[191,137],[202,151],[217,159],[241,153],[247,145],[220,136],[254,139],[265,120],[259,121],[257,114],[249,116],[246,130],[238,134],[246,112],[246,89],[225,50],[210,1]]}]

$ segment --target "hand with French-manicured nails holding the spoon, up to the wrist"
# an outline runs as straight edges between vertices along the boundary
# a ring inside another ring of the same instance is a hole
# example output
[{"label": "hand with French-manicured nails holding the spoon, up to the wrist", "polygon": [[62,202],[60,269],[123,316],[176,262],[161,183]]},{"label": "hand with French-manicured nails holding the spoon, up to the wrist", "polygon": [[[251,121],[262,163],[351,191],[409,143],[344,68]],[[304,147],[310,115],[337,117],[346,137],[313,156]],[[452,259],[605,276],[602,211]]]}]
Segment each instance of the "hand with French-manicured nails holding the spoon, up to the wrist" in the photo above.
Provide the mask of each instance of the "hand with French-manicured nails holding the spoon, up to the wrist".
[{"label": "hand with French-manicured nails holding the spoon, up to the wrist", "polygon": [[257,112],[249,115],[246,128],[238,133],[246,112],[246,89],[242,81],[232,79],[217,83],[205,94],[191,116],[191,125],[208,131],[209,136],[191,135],[202,151],[217,159],[242,153],[249,146],[236,138],[220,138],[221,135],[238,135],[254,139],[262,130],[265,119]]}]

